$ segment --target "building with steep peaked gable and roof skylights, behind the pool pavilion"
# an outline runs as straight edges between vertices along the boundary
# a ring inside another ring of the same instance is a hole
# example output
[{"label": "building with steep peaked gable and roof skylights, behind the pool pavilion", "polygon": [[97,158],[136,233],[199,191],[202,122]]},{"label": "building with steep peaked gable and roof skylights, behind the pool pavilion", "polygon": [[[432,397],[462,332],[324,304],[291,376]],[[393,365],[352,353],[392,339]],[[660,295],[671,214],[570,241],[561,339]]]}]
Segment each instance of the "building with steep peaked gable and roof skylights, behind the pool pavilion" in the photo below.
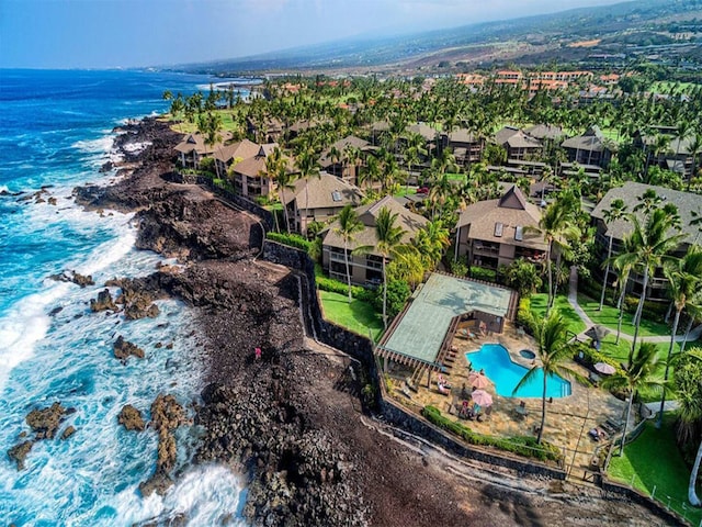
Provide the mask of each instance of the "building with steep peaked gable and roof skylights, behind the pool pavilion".
[{"label": "building with steep peaked gable and roof skylights, behind the pool pavilion", "polygon": [[519,258],[543,261],[547,245],[534,232],[541,215],[516,184],[498,200],[474,203],[458,217],[456,257],[465,255],[469,266],[495,270]]}]

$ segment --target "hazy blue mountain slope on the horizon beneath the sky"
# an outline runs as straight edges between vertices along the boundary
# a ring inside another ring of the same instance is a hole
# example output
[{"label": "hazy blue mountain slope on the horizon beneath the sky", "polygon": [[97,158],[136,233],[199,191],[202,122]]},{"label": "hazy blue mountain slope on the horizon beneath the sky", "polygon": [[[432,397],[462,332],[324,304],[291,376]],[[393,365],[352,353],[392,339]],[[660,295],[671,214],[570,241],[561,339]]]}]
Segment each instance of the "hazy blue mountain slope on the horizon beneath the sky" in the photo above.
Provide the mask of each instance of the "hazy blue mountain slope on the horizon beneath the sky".
[{"label": "hazy blue mountain slope on the horizon beneath the sky", "polygon": [[[341,69],[397,65],[423,56],[440,59],[471,53],[506,41],[542,46],[537,52],[568,42],[602,38],[673,16],[702,16],[702,0],[639,0],[607,7],[580,8],[554,14],[471,24],[448,30],[377,40],[347,40],[267,53],[250,57],[184,65],[174,69],[197,72],[247,72],[285,69]],[[529,53],[525,51],[524,53]]]}]

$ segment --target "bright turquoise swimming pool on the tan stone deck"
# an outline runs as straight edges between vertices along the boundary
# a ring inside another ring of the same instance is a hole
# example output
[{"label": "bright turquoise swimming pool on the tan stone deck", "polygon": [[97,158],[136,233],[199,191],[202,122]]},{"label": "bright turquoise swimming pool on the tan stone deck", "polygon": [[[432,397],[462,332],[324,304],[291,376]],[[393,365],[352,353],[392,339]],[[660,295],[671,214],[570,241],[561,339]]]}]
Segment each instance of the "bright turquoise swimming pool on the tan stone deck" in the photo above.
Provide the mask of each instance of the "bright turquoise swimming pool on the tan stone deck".
[{"label": "bright turquoise swimming pool on the tan stone deck", "polygon": [[[484,344],[478,351],[466,354],[474,370],[485,370],[485,374],[495,383],[497,394],[502,397],[541,397],[544,386],[544,373],[539,369],[534,379],[524,384],[512,395],[528,368],[512,362],[509,352],[500,344]],[[551,374],[546,383],[547,397],[565,397],[570,395],[570,382]]]}]

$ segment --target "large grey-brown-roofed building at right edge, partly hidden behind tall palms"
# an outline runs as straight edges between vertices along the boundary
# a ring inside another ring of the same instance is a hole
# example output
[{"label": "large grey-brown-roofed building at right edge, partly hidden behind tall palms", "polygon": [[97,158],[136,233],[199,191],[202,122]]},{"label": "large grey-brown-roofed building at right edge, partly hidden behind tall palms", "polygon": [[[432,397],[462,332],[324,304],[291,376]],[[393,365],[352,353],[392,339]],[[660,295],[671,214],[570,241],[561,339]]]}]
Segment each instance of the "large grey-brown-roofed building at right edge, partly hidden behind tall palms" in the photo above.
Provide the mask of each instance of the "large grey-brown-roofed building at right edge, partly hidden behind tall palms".
[{"label": "large grey-brown-roofed building at right edge, partly hidden behind tall palms", "polygon": [[[607,194],[604,194],[604,198],[602,198],[591,213],[592,222],[597,227],[597,245],[600,249],[600,261],[604,261],[607,258],[609,237],[612,236],[612,254],[618,255],[623,248],[624,237],[630,234],[633,228],[627,218],[616,220],[608,224],[604,221],[604,211],[610,210],[614,200],[622,200],[626,205],[626,211],[633,212],[634,208],[639,204],[639,197],[642,197],[647,190],[654,190],[663,200],[663,204],[672,203],[678,208],[681,233],[687,236],[675,253],[675,256],[680,257],[688,251],[688,248],[691,245],[702,243],[702,226],[692,224],[695,218],[700,217],[700,212],[702,211],[702,195],[693,194],[691,192],[670,190],[665,187],[655,187],[652,184],[627,181],[623,187],[611,189]],[[639,216],[639,220],[644,220],[642,211],[636,214]],[[610,270],[610,277],[611,281],[614,282],[616,276],[612,270]],[[630,291],[633,294],[641,294],[643,281],[643,274],[632,272],[629,279]],[[646,298],[649,300],[668,301],[667,290],[668,280],[663,273],[663,268],[658,268],[654,272],[653,277],[649,277],[648,279],[648,291],[646,293]]]}]

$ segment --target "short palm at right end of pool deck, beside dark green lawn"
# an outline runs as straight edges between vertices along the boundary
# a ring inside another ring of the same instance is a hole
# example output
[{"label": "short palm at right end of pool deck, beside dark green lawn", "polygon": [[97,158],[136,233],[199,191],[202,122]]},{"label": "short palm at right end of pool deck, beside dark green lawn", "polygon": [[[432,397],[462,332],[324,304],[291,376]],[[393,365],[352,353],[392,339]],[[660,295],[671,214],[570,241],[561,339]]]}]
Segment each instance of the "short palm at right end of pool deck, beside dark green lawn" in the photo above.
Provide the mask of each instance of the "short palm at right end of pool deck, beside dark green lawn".
[{"label": "short palm at right end of pool deck, beside dark green lawn", "polygon": [[639,348],[630,357],[626,370],[615,372],[602,381],[604,388],[619,388],[629,393],[629,404],[626,405],[626,417],[624,418],[624,430],[619,455],[624,451],[626,439],[626,428],[632,413],[632,404],[636,394],[642,388],[661,389],[664,383],[655,378],[658,366],[658,354],[656,345],[643,343]]}]

